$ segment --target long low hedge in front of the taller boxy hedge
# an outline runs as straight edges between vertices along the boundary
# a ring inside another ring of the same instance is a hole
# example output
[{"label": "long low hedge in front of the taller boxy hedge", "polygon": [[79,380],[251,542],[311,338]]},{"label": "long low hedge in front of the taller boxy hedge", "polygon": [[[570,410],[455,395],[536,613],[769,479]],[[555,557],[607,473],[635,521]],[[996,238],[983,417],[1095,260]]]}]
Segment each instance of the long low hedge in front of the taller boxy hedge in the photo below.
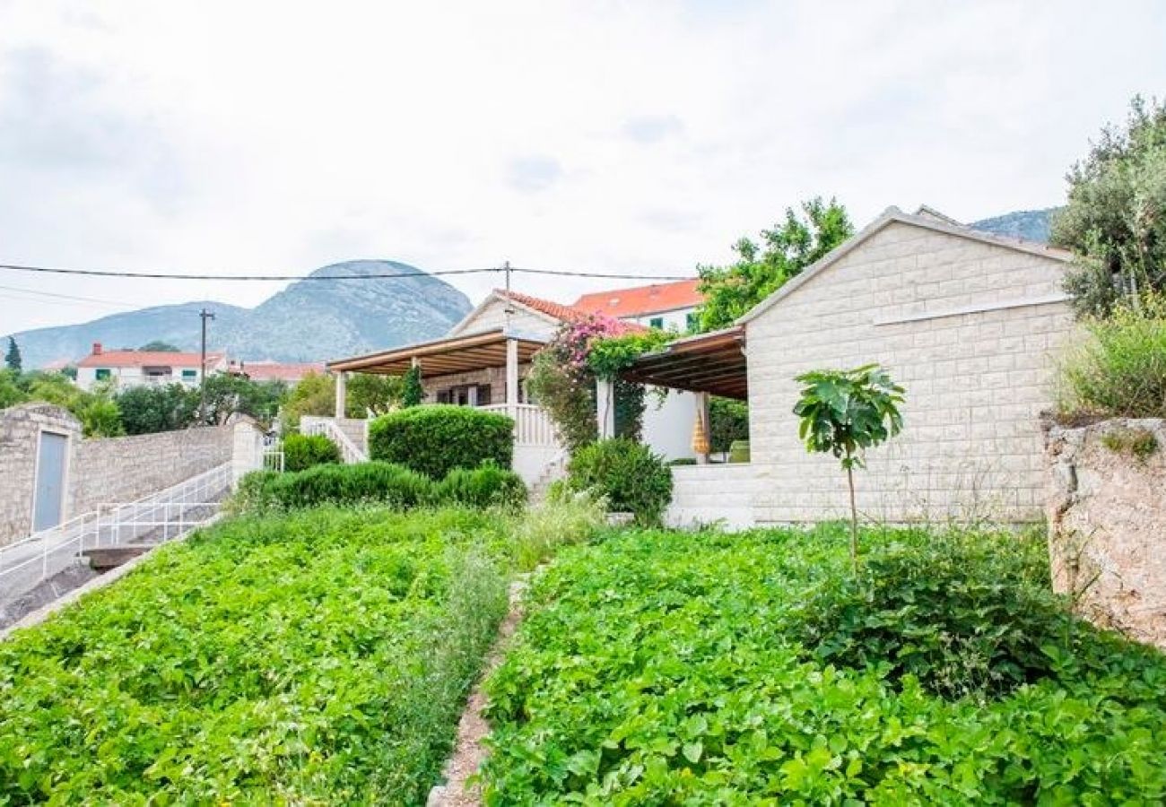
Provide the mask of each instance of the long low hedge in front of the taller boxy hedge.
[{"label": "long low hedge in front of the taller boxy hedge", "polygon": [[316,465],[298,473],[248,473],[239,483],[234,510],[257,512],[366,503],[395,510],[442,504],[520,507],[526,504],[526,486],[513,471],[491,464],[457,469],[440,483],[387,462]]}]

